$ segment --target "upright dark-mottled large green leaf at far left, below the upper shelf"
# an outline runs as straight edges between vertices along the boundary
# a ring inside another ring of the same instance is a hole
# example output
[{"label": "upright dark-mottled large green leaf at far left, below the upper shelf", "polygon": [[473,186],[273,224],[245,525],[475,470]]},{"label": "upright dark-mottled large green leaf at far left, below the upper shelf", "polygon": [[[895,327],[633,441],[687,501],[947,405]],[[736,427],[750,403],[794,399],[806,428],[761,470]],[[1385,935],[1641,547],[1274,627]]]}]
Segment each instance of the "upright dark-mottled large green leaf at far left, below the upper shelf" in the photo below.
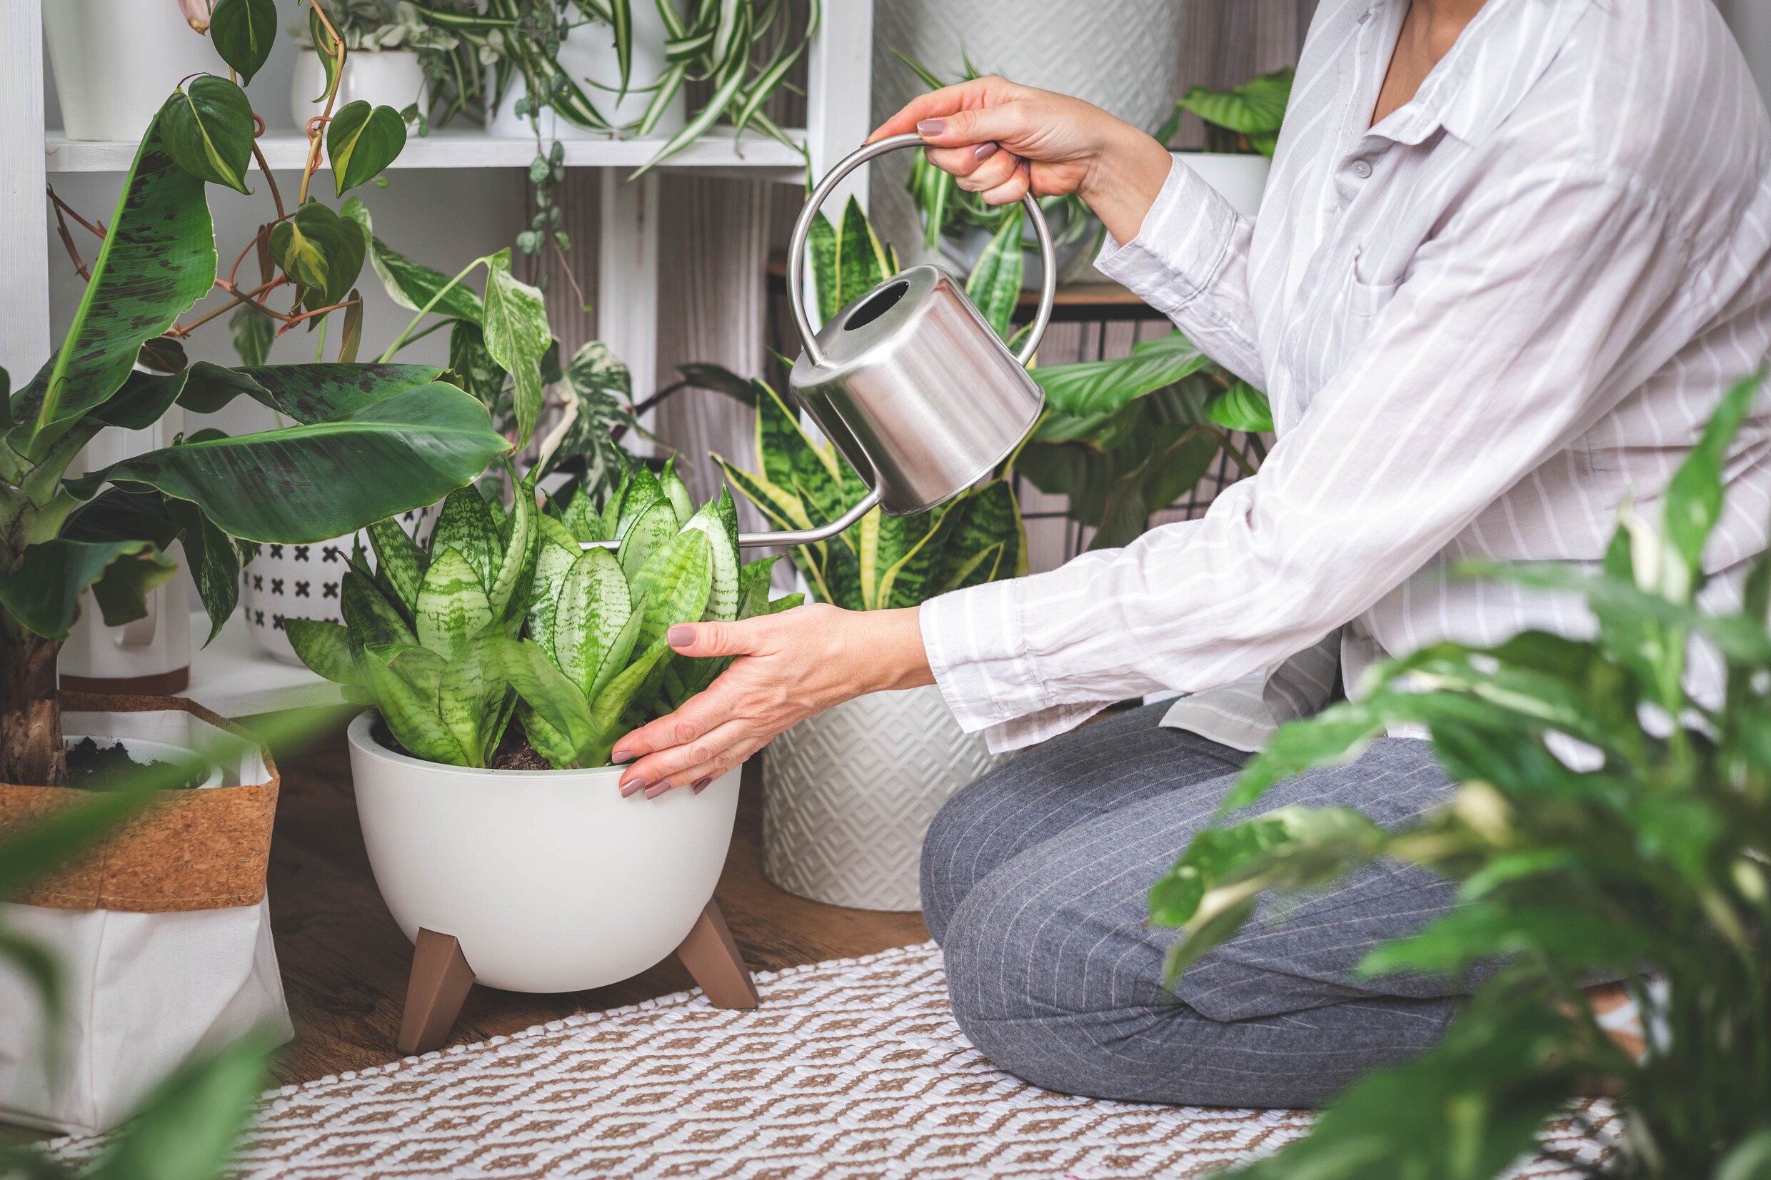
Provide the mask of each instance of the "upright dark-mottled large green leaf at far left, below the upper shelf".
[{"label": "upright dark-mottled large green leaf at far left, below the upper shelf", "polygon": [[214,285],[204,184],[165,152],[158,120],[124,177],[108,230],[48,375],[28,448],[16,448],[37,458],[66,428],[55,426],[106,402],[135,368],[142,341],[163,334]]}]

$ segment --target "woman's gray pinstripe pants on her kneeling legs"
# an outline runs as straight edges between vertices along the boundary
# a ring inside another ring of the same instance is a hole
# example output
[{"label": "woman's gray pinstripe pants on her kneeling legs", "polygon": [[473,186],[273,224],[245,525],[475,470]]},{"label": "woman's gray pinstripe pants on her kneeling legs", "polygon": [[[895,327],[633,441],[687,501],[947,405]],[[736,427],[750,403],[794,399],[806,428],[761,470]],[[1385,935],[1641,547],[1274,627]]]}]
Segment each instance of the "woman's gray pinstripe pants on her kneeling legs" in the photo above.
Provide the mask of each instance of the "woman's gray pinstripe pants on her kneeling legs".
[{"label": "woman's gray pinstripe pants on her kneeling legs", "polygon": [[[965,1035],[1048,1090],[1192,1106],[1319,1106],[1433,1044],[1458,982],[1351,977],[1373,945],[1452,904],[1454,886],[1420,869],[1378,865],[1279,902],[1164,992],[1176,932],[1144,925],[1146,893],[1247,757],[1162,729],[1165,708],[1031,750],[935,817],[923,908]],[[1351,805],[1394,824],[1447,794],[1426,741],[1385,738],[1254,810]]]}]

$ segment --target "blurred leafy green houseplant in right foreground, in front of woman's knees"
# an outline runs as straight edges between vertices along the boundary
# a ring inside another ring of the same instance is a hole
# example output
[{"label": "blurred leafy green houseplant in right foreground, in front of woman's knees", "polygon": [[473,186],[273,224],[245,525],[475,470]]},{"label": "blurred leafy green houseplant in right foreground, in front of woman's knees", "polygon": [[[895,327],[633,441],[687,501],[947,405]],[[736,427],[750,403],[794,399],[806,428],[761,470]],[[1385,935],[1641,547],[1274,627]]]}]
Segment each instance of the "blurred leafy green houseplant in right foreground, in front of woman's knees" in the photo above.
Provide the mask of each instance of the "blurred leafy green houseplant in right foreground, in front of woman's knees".
[{"label": "blurred leafy green houseplant in right foreground, in front of woman's knees", "polygon": [[[1759,386],[1721,400],[1658,527],[1624,510],[1599,570],[1466,563],[1468,577],[1583,598],[1592,639],[1527,632],[1387,663],[1358,701],[1280,729],[1226,800],[1256,803],[1417,722],[1461,784],[1443,808],[1399,830],[1351,808],[1211,828],[1151,890],[1151,920],[1187,929],[1169,955],[1178,977],[1266,892],[1328,885],[1376,858],[1424,865],[1461,885],[1463,906],[1360,969],[1489,969],[1438,1047],[1357,1083],[1307,1139],[1236,1175],[1495,1176],[1594,1086],[1620,1095],[1624,1130],[1601,1164],[1574,1164],[1587,1175],[1744,1180],[1771,1168],[1771,554],[1753,561],[1737,610],[1695,605],[1728,444]],[[1720,701],[1686,688],[1693,642],[1725,667]],[[1620,978],[1635,998],[1640,1056],[1599,1026],[1583,991],[1594,978]]]}]

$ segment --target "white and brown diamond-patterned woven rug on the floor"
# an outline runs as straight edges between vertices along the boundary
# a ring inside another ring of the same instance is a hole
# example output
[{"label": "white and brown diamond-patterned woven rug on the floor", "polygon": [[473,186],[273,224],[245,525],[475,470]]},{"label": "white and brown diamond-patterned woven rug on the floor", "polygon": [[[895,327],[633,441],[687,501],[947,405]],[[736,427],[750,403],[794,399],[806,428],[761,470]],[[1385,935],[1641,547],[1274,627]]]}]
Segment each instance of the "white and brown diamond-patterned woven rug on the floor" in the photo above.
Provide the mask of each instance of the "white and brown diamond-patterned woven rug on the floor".
[{"label": "white and brown diamond-patterned woven rug on the floor", "polygon": [[[1295,1111],[1100,1102],[995,1069],[947,1010],[940,950],[760,975],[266,1095],[251,1180],[379,1176],[1203,1176],[1305,1134]],[[1589,1106],[1605,1129],[1613,1115]],[[90,1143],[90,1141],[89,1141]],[[67,1153],[90,1146],[62,1141]],[[1596,1159],[1573,1120],[1546,1143]],[[1546,1161],[1516,1173],[1574,1175]]]}]

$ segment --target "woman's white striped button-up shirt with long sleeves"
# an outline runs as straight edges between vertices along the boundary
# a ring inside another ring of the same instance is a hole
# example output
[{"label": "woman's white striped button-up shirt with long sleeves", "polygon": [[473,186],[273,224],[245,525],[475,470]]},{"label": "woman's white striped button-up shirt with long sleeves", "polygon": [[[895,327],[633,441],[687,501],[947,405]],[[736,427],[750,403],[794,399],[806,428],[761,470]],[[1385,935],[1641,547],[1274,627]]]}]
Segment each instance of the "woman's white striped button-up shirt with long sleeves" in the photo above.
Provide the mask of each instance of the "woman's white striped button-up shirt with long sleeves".
[{"label": "woman's white striped button-up shirt with long sleeves", "polygon": [[[1268,391],[1277,444],[1203,520],[923,605],[997,750],[1164,688],[1256,748],[1374,660],[1578,603],[1445,577],[1596,561],[1771,352],[1771,119],[1711,0],[1489,0],[1371,113],[1408,0],[1323,0],[1257,221],[1176,163],[1100,267]],[[1727,464],[1714,600],[1766,545],[1771,416]]]}]

